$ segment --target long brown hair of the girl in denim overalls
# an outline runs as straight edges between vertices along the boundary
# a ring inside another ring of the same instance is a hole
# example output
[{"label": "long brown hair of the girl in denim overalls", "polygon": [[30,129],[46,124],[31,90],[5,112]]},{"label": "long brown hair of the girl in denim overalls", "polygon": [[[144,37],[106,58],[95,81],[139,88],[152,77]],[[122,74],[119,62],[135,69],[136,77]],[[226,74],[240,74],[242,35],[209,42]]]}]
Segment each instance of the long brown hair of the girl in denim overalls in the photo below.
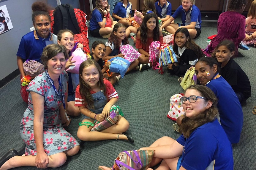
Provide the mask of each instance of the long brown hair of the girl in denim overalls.
[{"label": "long brown hair of the girl in denim overalls", "polygon": [[106,95],[106,86],[103,82],[103,75],[101,73],[101,69],[100,69],[100,66],[99,64],[97,63],[97,61],[95,60],[86,60],[86,61],[83,61],[81,64],[80,64],[80,67],[79,67],[79,92],[80,92],[80,95],[82,96],[83,98],[83,101],[85,102],[85,106],[88,108],[88,109],[94,109],[94,101],[93,101],[93,98],[91,96],[91,87],[86,84],[86,82],[83,81],[82,79],[82,75],[83,75],[83,69],[86,68],[86,67],[89,67],[91,65],[94,65],[98,72],[99,72],[99,81],[97,83],[97,86],[99,89],[103,90],[103,93],[104,95],[107,97],[108,99],[108,96]]}]

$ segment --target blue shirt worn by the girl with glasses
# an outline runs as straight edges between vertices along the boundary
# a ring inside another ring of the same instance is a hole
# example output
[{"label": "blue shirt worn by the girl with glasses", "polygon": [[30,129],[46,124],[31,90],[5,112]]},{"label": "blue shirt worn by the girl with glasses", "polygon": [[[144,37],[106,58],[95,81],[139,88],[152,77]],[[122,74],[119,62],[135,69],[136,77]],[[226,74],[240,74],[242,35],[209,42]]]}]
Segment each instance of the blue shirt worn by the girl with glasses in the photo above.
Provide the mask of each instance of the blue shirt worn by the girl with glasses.
[{"label": "blue shirt worn by the girl with glasses", "polygon": [[230,141],[217,119],[197,127],[188,138],[177,142],[184,146],[181,166],[190,170],[233,170]]}]

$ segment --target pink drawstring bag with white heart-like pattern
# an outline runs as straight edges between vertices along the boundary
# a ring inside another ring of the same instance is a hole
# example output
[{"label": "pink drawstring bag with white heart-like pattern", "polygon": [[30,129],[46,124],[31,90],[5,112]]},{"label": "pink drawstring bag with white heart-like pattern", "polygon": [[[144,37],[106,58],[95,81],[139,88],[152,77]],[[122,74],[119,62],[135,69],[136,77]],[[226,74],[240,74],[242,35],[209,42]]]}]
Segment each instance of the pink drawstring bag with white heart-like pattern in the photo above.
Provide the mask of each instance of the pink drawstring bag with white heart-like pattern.
[{"label": "pink drawstring bag with white heart-like pattern", "polygon": [[124,54],[124,58],[127,59],[130,63],[138,59],[139,56],[141,55],[137,50],[135,50],[129,44],[120,46],[120,52]]}]

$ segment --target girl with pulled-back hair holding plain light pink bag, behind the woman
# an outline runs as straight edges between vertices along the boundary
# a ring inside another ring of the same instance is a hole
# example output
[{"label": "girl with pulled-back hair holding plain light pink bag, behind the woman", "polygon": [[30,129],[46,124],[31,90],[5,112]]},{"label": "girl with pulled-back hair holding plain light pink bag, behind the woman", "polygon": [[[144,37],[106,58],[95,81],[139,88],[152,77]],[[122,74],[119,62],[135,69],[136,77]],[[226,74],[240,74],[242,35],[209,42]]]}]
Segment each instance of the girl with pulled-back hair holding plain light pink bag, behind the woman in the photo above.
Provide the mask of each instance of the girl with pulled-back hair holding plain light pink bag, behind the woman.
[{"label": "girl with pulled-back hair holding plain light pink bag, behind the woman", "polygon": [[[73,56],[70,52],[75,45],[74,42],[74,33],[71,30],[65,29],[60,30],[58,33],[58,44],[63,45],[66,48],[67,54],[69,54],[69,59],[66,62],[65,69],[68,69],[70,66],[75,65],[75,61],[71,61]],[[77,48],[81,48],[83,50],[83,44],[78,43]],[[68,109],[67,114],[71,116],[79,116],[80,111],[78,107],[75,107],[75,89],[79,84],[79,75],[75,73],[68,73]]]}]

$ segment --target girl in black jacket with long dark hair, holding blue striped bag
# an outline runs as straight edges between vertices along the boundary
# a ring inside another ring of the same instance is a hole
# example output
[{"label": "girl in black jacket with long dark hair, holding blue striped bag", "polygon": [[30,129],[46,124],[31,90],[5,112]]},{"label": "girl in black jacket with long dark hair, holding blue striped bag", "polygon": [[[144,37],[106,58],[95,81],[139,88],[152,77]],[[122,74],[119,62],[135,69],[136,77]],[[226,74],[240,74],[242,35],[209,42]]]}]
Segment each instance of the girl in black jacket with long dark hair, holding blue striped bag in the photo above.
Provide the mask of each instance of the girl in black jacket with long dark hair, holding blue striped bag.
[{"label": "girl in black jacket with long dark hair, holding blue striped bag", "polygon": [[[168,64],[167,72],[184,76],[187,69],[195,66],[198,59],[204,56],[201,48],[191,39],[187,28],[178,28],[174,34],[173,51],[178,63]],[[181,82],[182,77],[179,78]]]}]

